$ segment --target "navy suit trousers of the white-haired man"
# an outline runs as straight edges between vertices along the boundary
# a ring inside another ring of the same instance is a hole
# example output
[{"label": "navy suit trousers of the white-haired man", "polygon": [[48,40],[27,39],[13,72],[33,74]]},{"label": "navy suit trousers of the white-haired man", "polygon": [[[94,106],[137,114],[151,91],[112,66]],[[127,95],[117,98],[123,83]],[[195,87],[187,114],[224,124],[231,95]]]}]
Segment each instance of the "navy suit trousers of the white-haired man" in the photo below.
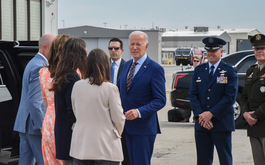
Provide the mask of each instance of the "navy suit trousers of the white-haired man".
[{"label": "navy suit trousers of the white-haired man", "polygon": [[150,165],[156,135],[126,134],[131,165]]}]

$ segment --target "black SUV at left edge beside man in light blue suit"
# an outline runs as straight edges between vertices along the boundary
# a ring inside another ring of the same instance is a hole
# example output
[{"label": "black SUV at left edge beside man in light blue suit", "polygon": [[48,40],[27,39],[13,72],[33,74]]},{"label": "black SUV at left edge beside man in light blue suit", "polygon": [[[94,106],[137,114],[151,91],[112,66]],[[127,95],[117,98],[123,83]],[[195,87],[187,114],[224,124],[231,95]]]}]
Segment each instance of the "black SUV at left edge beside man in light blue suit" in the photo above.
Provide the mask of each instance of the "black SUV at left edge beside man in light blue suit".
[{"label": "black SUV at left edge beside man in light blue suit", "polygon": [[13,128],[24,69],[36,53],[38,41],[0,40],[0,164],[19,157],[20,137]]}]

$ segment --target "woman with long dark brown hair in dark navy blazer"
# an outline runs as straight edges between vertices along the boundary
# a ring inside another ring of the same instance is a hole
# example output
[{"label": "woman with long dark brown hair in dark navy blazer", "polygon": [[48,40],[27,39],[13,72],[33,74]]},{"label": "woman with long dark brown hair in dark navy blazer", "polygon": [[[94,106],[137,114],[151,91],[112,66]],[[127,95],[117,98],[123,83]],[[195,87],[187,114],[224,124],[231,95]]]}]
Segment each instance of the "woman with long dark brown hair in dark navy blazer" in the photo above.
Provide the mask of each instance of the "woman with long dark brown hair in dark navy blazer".
[{"label": "woman with long dark brown hair in dark navy blazer", "polygon": [[84,75],[86,61],[86,42],[81,38],[68,39],[63,47],[53,86],[55,103],[54,137],[56,159],[65,160],[65,164],[73,164],[70,157],[72,125],[75,123],[71,93],[75,82]]}]

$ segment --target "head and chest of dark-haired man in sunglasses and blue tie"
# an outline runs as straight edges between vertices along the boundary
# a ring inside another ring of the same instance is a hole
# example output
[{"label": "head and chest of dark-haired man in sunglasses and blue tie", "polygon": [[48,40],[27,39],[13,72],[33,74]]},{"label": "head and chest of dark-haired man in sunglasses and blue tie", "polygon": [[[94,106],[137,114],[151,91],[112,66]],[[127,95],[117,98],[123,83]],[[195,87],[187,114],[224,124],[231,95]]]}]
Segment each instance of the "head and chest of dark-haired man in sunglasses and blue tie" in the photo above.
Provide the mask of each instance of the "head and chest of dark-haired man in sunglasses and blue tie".
[{"label": "head and chest of dark-haired man in sunglasses and blue tie", "polygon": [[116,85],[120,75],[121,65],[126,62],[121,58],[123,53],[123,44],[119,38],[112,38],[109,41],[109,55],[110,55],[110,78],[111,83]]}]

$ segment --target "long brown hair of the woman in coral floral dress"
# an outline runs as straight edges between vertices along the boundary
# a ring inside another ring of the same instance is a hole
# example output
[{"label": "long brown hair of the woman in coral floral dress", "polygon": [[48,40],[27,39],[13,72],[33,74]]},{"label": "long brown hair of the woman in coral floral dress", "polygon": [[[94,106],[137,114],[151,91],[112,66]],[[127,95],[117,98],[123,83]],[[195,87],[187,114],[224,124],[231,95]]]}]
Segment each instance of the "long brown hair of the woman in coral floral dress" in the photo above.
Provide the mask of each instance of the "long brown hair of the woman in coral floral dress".
[{"label": "long brown hair of the woman in coral floral dress", "polygon": [[70,38],[69,35],[58,35],[52,41],[50,51],[48,54],[49,65],[45,66],[45,67],[48,67],[51,78],[54,78],[55,76],[55,71],[56,71],[58,62],[61,60],[63,45],[69,38]]}]

